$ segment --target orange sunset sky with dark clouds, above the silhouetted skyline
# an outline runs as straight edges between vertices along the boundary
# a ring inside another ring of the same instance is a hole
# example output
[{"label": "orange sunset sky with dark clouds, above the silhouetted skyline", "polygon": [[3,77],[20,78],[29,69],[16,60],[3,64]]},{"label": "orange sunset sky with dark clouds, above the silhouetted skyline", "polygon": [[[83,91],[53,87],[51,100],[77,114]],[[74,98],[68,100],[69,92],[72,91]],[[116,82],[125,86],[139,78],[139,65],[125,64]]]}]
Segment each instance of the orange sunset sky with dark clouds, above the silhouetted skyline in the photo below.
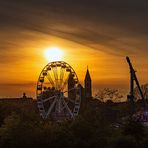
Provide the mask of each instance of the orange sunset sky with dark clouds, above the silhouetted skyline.
[{"label": "orange sunset sky with dark clouds, above the silhouetted skyline", "polygon": [[127,94],[129,56],[148,82],[148,3],[144,0],[0,0],[0,97],[35,98],[45,51],[57,47],[83,84],[87,65],[93,94],[105,87]]}]

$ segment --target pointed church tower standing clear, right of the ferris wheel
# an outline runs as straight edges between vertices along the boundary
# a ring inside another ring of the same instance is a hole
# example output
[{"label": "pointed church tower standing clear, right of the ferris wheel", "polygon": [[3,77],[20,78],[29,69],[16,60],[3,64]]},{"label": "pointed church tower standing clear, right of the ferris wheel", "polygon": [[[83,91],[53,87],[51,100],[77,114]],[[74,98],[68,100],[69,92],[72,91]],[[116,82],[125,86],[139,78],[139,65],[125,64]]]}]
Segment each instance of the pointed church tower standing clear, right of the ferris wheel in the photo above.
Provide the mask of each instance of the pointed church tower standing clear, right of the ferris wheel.
[{"label": "pointed church tower standing clear, right of the ferris wheel", "polygon": [[92,98],[91,77],[88,68],[86,71],[84,83],[85,83],[85,98]]}]

